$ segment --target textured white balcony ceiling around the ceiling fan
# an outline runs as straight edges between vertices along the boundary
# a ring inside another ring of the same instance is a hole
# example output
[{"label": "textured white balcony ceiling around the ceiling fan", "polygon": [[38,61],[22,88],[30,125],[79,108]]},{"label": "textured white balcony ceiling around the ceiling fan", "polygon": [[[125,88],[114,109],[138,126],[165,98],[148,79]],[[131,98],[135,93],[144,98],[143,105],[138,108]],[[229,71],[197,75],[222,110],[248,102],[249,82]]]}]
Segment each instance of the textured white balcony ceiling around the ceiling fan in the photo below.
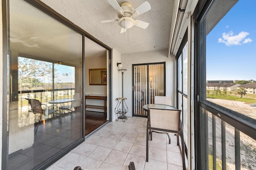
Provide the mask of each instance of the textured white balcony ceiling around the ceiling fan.
[{"label": "textured white balcony ceiling around the ceiling fan", "polygon": [[[116,10],[107,0],[41,1],[121,54],[168,49],[174,0],[148,0],[151,10],[136,18],[148,22],[148,28],[134,26],[123,34],[117,22],[100,23],[101,20],[118,19]],[[144,1],[117,0],[118,4],[130,2],[134,9]]]}]

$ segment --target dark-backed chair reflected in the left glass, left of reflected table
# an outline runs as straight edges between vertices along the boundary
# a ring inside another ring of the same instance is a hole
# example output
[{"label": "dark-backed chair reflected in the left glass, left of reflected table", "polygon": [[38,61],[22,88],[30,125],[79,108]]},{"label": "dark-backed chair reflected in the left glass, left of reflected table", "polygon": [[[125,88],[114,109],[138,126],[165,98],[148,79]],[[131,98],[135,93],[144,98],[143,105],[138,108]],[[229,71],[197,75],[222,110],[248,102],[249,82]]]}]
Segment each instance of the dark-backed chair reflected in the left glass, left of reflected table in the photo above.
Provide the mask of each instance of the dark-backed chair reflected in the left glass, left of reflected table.
[{"label": "dark-backed chair reflected in the left glass, left of reflected table", "polygon": [[34,114],[39,114],[40,115],[39,120],[37,122],[35,122],[34,133],[36,134],[36,132],[38,130],[39,123],[42,121],[42,116],[46,115],[46,113],[48,115],[56,113],[57,110],[48,109],[47,105],[42,104],[37,99],[28,99],[28,98],[26,98],[26,100],[28,100],[28,104],[30,105],[29,112],[33,112]]}]

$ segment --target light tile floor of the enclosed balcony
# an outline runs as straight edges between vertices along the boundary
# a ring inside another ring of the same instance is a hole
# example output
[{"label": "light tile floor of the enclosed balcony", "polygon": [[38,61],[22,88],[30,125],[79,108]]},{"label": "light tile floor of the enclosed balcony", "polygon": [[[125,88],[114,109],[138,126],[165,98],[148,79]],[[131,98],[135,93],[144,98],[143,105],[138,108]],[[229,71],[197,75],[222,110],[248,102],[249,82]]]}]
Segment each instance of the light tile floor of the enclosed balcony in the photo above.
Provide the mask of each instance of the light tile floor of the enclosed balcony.
[{"label": "light tile floor of the enclosed balcony", "polygon": [[142,117],[128,117],[109,123],[85,142],[58,160],[48,170],[73,170],[128,165],[136,170],[182,170],[182,155],[174,134],[153,133],[146,162],[146,124]]}]

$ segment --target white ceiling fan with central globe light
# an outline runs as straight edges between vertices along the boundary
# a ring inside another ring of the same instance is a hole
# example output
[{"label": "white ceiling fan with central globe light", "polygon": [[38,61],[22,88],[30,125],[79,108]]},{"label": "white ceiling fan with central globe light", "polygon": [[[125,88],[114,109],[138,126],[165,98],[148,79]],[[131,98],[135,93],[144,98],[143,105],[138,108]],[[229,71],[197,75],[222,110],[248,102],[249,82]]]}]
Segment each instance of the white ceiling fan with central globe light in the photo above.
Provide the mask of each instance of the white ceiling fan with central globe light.
[{"label": "white ceiling fan with central globe light", "polygon": [[104,20],[101,23],[115,22],[118,21],[118,25],[121,27],[120,33],[126,32],[127,29],[132,28],[134,25],[140,28],[146,29],[148,27],[148,22],[134,20],[135,17],[144,14],[151,9],[148,1],[143,2],[137,8],[132,8],[129,2],[123,2],[119,5],[116,0],[108,0],[108,3],[117,11],[117,20]]}]

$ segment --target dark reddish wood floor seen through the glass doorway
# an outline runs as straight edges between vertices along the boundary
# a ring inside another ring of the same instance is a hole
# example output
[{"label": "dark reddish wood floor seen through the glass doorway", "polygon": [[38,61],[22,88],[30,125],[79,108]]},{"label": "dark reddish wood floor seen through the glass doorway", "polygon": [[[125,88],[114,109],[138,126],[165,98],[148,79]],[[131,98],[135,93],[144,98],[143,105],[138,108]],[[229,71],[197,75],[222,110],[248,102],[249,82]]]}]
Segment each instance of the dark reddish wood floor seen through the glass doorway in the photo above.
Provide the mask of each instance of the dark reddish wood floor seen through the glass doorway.
[{"label": "dark reddish wood floor seen through the glass doorway", "polygon": [[90,134],[106,122],[106,113],[86,111],[85,135]]}]

